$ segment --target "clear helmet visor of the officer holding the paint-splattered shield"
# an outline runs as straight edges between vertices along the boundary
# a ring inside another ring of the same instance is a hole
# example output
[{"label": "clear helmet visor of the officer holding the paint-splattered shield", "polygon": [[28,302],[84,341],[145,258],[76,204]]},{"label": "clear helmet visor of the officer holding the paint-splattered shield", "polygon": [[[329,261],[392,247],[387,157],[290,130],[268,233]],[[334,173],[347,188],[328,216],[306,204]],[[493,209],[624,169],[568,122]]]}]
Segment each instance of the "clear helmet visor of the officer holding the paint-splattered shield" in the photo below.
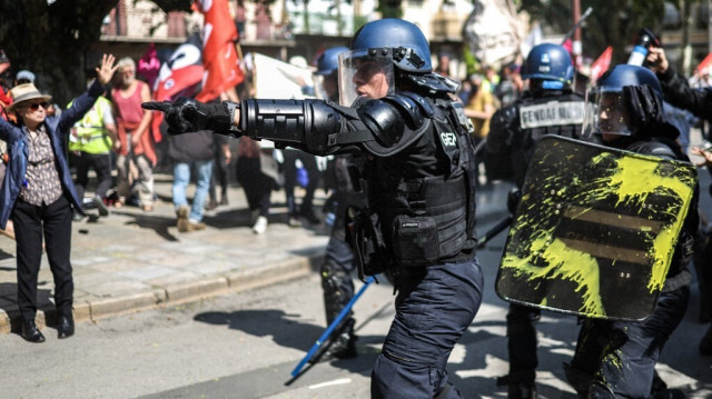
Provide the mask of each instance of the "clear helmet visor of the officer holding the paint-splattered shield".
[{"label": "clear helmet visor of the officer holding the paint-splattered shield", "polygon": [[622,91],[591,89],[586,92],[583,137],[592,134],[631,136]]}]

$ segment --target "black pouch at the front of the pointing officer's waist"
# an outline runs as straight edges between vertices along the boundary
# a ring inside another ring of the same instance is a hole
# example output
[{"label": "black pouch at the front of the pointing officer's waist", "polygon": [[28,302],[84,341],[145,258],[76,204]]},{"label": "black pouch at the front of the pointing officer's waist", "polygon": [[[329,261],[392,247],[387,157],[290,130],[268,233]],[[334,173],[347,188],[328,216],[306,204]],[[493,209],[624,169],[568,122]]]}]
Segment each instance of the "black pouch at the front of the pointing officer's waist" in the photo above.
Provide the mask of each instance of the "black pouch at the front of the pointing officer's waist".
[{"label": "black pouch at the front of the pointing officer's waist", "polygon": [[346,209],[346,241],[354,251],[358,278],[375,276],[393,266],[386,242],[380,233],[378,215],[349,206]]}]

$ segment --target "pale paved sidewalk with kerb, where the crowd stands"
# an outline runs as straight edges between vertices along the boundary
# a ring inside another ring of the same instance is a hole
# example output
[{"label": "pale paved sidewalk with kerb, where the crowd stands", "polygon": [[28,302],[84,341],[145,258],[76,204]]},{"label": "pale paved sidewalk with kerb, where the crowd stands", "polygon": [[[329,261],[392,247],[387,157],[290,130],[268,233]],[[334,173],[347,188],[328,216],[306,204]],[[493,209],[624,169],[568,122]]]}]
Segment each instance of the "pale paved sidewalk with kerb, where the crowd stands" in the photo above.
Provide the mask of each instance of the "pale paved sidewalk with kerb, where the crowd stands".
[{"label": "pale paved sidewalk with kerb, where the crowd stands", "polygon": [[[229,189],[229,206],[206,212],[206,230],[181,233],[170,202],[171,182],[172,176],[156,174],[159,200],[152,212],[126,206],[98,218],[96,210],[88,210],[88,218],[72,223],[76,321],[264,287],[320,267],[329,230],[324,223],[288,227],[284,191],[273,192],[274,207],[264,235],[253,233],[247,200],[236,187]],[[479,226],[504,217],[502,198],[508,187],[502,183],[478,193]],[[190,186],[189,198],[192,193]],[[317,190],[315,210],[325,199],[324,191]],[[20,330],[14,252],[14,241],[0,237],[0,333]],[[43,256],[38,288],[40,328],[53,321],[52,288]]]}]

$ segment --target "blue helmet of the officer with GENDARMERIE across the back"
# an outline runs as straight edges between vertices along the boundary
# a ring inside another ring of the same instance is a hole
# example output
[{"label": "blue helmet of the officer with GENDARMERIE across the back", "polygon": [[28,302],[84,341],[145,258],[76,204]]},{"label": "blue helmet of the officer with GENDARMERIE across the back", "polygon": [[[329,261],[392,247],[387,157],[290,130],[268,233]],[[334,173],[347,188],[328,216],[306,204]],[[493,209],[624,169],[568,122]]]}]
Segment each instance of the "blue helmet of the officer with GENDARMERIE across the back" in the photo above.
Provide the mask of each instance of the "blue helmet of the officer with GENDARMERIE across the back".
[{"label": "blue helmet of the officer with GENDARMERIE across the back", "polygon": [[563,89],[574,80],[574,66],[568,51],[562,46],[534,46],[522,67],[522,79],[544,80],[544,89]]}]

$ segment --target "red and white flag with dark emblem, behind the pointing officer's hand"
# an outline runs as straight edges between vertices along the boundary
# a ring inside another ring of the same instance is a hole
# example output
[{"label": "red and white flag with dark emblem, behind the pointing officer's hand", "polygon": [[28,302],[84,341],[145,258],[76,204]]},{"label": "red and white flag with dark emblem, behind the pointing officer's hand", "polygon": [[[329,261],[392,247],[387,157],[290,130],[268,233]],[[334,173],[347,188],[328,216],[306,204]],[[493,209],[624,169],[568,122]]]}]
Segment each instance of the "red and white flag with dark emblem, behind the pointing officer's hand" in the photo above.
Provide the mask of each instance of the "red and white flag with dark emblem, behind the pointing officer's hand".
[{"label": "red and white flag with dark emblem, behind the pointing officer's hand", "polygon": [[[164,62],[156,80],[154,100],[166,101],[176,96],[192,97],[200,81],[205,68],[200,61],[200,38],[192,34],[180,44]],[[160,141],[160,122],[164,120],[162,112],[154,112],[151,131],[156,142]]]}]

